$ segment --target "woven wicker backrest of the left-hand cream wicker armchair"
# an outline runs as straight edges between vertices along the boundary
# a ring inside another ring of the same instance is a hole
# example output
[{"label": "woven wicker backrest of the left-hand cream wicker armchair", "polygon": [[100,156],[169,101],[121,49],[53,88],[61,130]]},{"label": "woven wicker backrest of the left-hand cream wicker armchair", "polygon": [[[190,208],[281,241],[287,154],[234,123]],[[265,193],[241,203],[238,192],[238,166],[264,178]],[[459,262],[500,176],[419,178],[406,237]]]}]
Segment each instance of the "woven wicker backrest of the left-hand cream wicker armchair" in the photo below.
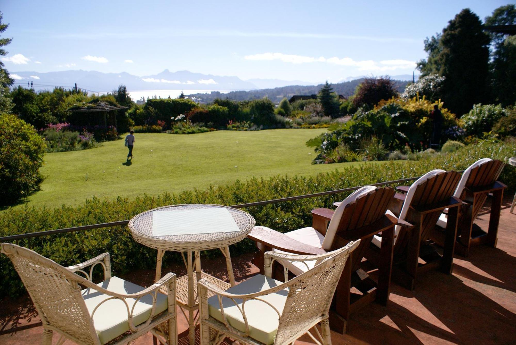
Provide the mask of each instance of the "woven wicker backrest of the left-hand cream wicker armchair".
[{"label": "woven wicker backrest of the left-hand cream wicker armchair", "polygon": [[2,244],[46,329],[65,333],[78,342],[99,344],[81,295],[83,277],[27,248]]}]

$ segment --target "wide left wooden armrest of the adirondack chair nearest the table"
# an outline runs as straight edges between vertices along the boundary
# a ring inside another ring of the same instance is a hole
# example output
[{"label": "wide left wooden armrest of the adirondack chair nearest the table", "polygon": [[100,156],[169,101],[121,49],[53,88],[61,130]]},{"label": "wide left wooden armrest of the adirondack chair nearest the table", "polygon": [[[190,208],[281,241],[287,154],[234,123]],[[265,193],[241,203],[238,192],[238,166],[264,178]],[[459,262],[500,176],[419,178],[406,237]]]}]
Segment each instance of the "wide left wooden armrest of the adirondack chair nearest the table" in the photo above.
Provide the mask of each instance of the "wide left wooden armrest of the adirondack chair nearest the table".
[{"label": "wide left wooden armrest of the adirondack chair nearest the table", "polygon": [[293,254],[314,255],[326,253],[322,248],[304,244],[281,232],[266,227],[254,227],[247,237],[254,241],[263,243],[267,247],[276,248]]}]

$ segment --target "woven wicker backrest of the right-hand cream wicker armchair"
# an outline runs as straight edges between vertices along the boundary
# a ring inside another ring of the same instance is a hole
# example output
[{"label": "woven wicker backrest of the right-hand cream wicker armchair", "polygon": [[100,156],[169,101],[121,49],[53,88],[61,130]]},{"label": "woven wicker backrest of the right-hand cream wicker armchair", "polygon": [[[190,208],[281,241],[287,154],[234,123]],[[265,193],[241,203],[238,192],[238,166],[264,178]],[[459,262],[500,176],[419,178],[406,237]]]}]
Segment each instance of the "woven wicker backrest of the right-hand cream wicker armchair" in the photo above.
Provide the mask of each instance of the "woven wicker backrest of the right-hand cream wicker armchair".
[{"label": "woven wicker backrest of the right-hand cream wicker armchair", "polygon": [[275,344],[294,341],[315,323],[328,319],[338,279],[351,251],[360,241],[336,250],[319,265],[288,281],[288,296],[280,317]]}]

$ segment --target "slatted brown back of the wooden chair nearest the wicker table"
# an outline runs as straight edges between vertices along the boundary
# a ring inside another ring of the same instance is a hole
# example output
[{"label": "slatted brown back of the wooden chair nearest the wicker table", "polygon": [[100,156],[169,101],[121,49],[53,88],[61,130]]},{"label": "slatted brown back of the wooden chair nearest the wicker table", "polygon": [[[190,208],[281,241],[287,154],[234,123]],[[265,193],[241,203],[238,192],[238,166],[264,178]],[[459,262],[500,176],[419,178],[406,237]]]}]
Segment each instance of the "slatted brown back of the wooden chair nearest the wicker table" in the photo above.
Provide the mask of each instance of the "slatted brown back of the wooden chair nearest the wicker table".
[{"label": "slatted brown back of the wooden chair nearest the wicker table", "polygon": [[385,215],[389,202],[396,192],[390,187],[376,187],[373,191],[359,196],[348,203],[338,223],[337,236],[333,241],[332,250],[343,247],[350,240],[361,239],[360,245],[353,251],[351,269],[355,271],[369,247],[375,229],[364,232],[364,227],[373,225]]}]

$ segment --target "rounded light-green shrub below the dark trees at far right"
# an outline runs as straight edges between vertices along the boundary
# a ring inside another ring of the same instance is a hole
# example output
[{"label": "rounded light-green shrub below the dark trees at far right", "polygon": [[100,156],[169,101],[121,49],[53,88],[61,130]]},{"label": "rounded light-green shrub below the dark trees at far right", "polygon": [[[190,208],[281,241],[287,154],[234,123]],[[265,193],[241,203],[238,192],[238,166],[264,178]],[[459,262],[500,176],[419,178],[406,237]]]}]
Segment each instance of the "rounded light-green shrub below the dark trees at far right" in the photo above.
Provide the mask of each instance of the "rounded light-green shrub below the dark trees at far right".
[{"label": "rounded light-green shrub below the dark trees at far right", "polygon": [[481,137],[483,133],[490,132],[493,125],[499,119],[506,116],[506,110],[501,105],[473,105],[469,113],[462,116],[461,120],[466,130],[466,135]]}]

